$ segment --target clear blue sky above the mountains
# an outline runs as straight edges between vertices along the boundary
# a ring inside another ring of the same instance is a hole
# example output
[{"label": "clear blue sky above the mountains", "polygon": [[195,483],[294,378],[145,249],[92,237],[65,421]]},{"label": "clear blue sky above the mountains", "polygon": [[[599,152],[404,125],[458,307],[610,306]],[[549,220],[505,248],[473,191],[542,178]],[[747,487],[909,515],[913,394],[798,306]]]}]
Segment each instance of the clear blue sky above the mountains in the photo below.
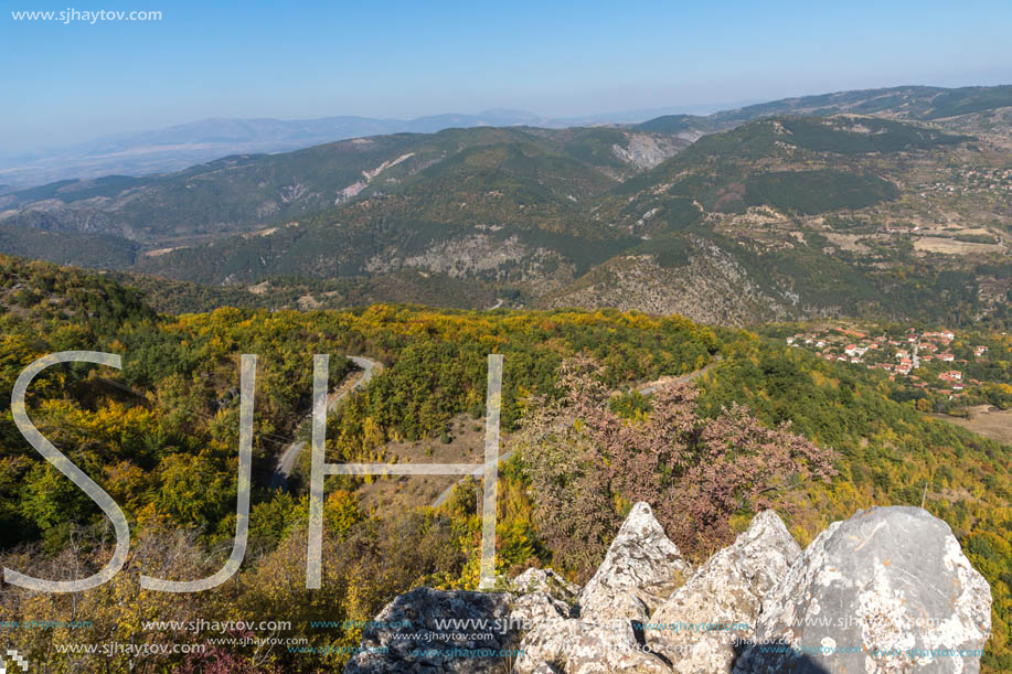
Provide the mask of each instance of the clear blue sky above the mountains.
[{"label": "clear blue sky above the mountains", "polygon": [[[3,150],[206,117],[547,116],[1012,83],[1002,2],[3,0]],[[158,22],[12,11],[162,12]],[[2,152],[0,152],[2,153]]]}]

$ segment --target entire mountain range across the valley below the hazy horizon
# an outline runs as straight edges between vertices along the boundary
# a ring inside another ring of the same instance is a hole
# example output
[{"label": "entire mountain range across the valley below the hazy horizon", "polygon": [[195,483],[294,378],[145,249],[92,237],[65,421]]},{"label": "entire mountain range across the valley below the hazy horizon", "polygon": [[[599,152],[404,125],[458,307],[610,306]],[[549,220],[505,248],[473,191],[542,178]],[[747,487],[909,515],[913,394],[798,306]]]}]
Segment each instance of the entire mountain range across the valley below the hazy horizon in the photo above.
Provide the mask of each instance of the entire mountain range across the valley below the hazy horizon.
[{"label": "entire mountain range across the valley below the hazy horizon", "polygon": [[270,307],[1000,322],[1010,245],[1009,86],[388,133],[0,196],[2,252]]}]

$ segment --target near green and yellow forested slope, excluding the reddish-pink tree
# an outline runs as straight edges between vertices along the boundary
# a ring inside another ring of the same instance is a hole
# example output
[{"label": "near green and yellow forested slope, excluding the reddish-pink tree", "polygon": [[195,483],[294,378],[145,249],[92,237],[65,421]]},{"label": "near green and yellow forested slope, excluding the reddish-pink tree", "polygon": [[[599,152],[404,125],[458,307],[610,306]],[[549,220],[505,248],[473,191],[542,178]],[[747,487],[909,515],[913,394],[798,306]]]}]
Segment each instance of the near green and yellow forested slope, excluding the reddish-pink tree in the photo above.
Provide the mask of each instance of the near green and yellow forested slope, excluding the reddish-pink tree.
[{"label": "near green and yellow forested slope, excluding the reddish-pink tree", "polygon": [[[806,543],[829,521],[849,516],[859,506],[924,500],[928,510],[950,523],[991,584],[994,630],[986,659],[989,671],[1010,664],[1010,449],[927,419],[913,403],[893,400],[887,381],[876,374],[789,352],[749,333],[714,332],[678,317],[635,312],[473,312],[381,304],[345,311],[220,309],[161,317],[136,292],[103,277],[6,257],[0,263],[0,389],[9,392],[28,363],[53,351],[103,350],[124,359],[119,372],[52,368],[33,385],[29,399],[29,413],[40,429],[117,500],[135,534],[130,566],[102,588],[75,598],[18,591],[0,598],[8,616],[78,614],[93,622],[73,633],[8,634],[13,648],[32,653],[49,671],[90,666],[81,656],[56,653],[54,643],[145,640],[151,638],[141,628],[145,620],[212,613],[223,620],[251,614],[290,619],[294,627],[286,636],[317,645],[351,645],[358,641],[356,630],[312,628],[309,621],[366,620],[394,595],[418,584],[473,587],[480,521],[467,489],[439,511],[420,507],[422,503],[417,510],[370,511],[363,505],[367,491],[397,490],[400,482],[330,478],[324,588],[305,589],[305,493],[270,492],[263,485],[308,408],[313,353],[335,354],[333,384],[348,367],[337,357],[340,354],[364,354],[386,365],[362,395],[330,417],[331,461],[388,460],[384,448],[391,440],[438,442],[460,415],[480,416],[490,352],[505,357],[503,429],[516,437],[535,411],[525,410],[525,405],[539,395],[555,396],[557,367],[575,356],[603,368],[601,385],[624,389],[659,375],[697,370],[721,354],[721,362],[697,382],[701,422],[742,403],[767,427],[791,421],[791,432],[835,451],[839,474],[830,482],[788,482],[789,489],[775,492],[774,505],[787,515],[795,535]],[[257,486],[243,568],[207,592],[140,591],[136,573],[143,565],[146,573],[160,568],[170,577],[198,578],[213,571],[227,549],[234,527],[238,413],[228,392],[237,386],[242,353],[259,359]],[[616,399],[614,408],[635,428],[650,422],[652,405],[632,395]],[[734,428],[734,418],[721,424]],[[617,454],[622,462],[642,464],[637,446],[617,451],[629,452]],[[500,570],[537,563],[577,575],[586,567],[574,557],[579,548],[541,528],[542,511],[551,501],[530,480],[524,460],[502,468]],[[83,571],[103,563],[111,544],[104,517],[31,450],[7,407],[0,415],[0,468],[6,566],[31,565],[39,574],[55,576],[67,565],[82,565]],[[663,498],[663,491],[657,491],[668,479],[663,473],[651,477],[648,471],[640,478],[646,482],[636,489],[647,489],[654,494],[651,499]],[[625,498],[587,504],[593,507],[582,512],[603,523],[615,523],[628,507]],[[723,525],[742,526],[750,507],[750,502],[743,502],[724,515]],[[610,536],[605,529],[600,534]],[[694,554],[706,552],[704,545]],[[347,656],[335,651],[305,655],[276,650],[258,666],[332,668]],[[214,657],[230,671],[253,666],[242,649],[224,649]],[[117,662],[107,664],[116,667]],[[210,661],[148,656],[143,664],[152,671],[200,671]]]}]

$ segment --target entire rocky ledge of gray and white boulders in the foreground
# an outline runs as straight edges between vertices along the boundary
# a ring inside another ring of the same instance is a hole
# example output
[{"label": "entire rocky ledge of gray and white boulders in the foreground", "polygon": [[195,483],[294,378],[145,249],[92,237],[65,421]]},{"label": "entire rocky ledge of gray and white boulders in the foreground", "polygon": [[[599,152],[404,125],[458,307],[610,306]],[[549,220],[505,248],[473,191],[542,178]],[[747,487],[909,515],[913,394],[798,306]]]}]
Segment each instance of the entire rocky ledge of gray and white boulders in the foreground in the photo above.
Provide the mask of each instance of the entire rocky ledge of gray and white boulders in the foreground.
[{"label": "entire rocky ledge of gray and white boulders in the foreground", "polygon": [[345,673],[980,671],[991,589],[949,526],[874,507],[801,550],[773,511],[697,569],[638,503],[586,587],[529,569],[509,592],[402,595]]}]

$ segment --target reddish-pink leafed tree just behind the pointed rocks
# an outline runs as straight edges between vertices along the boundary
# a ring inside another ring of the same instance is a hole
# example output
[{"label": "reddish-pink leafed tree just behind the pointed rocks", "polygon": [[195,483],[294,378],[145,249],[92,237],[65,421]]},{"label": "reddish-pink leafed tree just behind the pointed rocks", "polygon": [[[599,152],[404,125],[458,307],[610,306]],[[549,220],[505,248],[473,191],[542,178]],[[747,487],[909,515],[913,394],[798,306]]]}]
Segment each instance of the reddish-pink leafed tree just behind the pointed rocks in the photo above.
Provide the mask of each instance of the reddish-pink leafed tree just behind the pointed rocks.
[{"label": "reddish-pink leafed tree just behind the pointed rocks", "polygon": [[651,504],[683,552],[701,555],[729,542],[735,513],[837,473],[833,451],[789,422],[768,428],[737,404],[701,416],[692,384],[661,388],[649,411],[624,417],[612,409],[618,392],[598,375],[587,359],[564,363],[558,397],[532,399],[523,430],[539,531],[580,570],[600,559],[637,501]]}]

